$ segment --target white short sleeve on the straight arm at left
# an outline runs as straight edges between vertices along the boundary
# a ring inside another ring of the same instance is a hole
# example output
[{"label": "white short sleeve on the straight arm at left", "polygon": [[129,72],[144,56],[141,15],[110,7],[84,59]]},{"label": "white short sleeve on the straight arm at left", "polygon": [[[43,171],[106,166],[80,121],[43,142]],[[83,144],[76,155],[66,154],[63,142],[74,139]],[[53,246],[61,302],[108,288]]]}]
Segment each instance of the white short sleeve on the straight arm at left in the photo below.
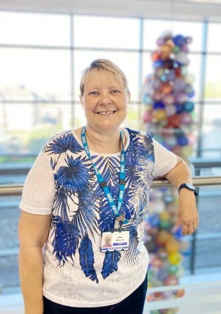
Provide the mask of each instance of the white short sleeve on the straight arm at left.
[{"label": "white short sleeve on the straight arm at left", "polygon": [[55,181],[50,161],[40,152],[26,178],[20,209],[33,214],[52,212],[55,200]]}]

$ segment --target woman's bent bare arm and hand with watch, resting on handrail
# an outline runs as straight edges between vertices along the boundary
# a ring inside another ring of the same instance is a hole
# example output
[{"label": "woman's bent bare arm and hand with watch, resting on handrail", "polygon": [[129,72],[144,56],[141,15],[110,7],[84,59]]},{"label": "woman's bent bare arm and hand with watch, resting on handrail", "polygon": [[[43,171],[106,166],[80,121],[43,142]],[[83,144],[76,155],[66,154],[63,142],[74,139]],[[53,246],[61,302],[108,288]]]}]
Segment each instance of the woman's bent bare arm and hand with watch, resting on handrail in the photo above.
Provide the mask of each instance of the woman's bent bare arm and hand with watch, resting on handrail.
[{"label": "woman's bent bare arm and hand with watch, resting on handrail", "polygon": [[[165,175],[165,178],[177,189],[182,183],[192,184],[188,165],[180,157],[177,157],[176,166]],[[177,228],[182,225],[182,234],[190,235],[196,229],[196,227],[193,226],[198,226],[198,223],[195,195],[193,191],[190,191],[187,188],[182,188],[179,192]]]}]

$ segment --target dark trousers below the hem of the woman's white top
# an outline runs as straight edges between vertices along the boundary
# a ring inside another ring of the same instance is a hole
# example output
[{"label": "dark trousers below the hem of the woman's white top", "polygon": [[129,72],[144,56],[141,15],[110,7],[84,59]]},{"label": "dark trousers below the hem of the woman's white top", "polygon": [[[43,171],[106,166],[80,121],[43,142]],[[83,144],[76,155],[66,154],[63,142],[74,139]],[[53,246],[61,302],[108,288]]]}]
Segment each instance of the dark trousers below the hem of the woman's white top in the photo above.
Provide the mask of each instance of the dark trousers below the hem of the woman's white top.
[{"label": "dark trousers below the hem of the woman's white top", "polygon": [[99,308],[73,308],[57,304],[44,297],[44,314],[142,314],[146,291],[147,276],[132,294],[114,305]]}]

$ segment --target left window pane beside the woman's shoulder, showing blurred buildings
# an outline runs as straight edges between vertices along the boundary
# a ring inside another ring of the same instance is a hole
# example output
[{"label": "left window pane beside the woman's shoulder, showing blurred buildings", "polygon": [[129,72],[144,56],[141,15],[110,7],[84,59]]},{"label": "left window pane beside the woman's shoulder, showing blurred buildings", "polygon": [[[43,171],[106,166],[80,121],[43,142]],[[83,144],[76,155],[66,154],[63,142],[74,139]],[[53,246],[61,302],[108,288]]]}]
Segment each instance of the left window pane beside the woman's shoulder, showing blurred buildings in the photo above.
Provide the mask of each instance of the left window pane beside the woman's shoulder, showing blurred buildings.
[{"label": "left window pane beside the woman's shoulder, showing blurred buildings", "polygon": [[51,136],[72,125],[70,104],[0,104],[0,113],[4,117],[0,130],[0,154],[4,156],[0,164],[7,166],[26,163],[25,154],[38,154]]}]

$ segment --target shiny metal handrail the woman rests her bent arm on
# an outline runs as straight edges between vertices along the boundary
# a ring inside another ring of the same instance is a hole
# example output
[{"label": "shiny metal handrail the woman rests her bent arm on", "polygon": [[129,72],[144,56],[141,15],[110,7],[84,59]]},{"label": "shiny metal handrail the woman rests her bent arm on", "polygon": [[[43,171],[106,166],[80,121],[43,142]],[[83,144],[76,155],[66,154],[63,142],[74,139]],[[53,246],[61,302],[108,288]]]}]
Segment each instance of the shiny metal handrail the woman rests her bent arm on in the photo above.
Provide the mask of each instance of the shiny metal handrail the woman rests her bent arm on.
[{"label": "shiny metal handrail the woman rests her bent arm on", "polygon": [[[220,176],[197,176],[193,177],[194,186],[204,186],[204,185],[219,185],[221,184]],[[21,195],[23,190],[23,184],[17,185],[0,185],[0,196],[9,195]],[[154,179],[151,187],[171,187],[172,184],[166,179]]]}]

